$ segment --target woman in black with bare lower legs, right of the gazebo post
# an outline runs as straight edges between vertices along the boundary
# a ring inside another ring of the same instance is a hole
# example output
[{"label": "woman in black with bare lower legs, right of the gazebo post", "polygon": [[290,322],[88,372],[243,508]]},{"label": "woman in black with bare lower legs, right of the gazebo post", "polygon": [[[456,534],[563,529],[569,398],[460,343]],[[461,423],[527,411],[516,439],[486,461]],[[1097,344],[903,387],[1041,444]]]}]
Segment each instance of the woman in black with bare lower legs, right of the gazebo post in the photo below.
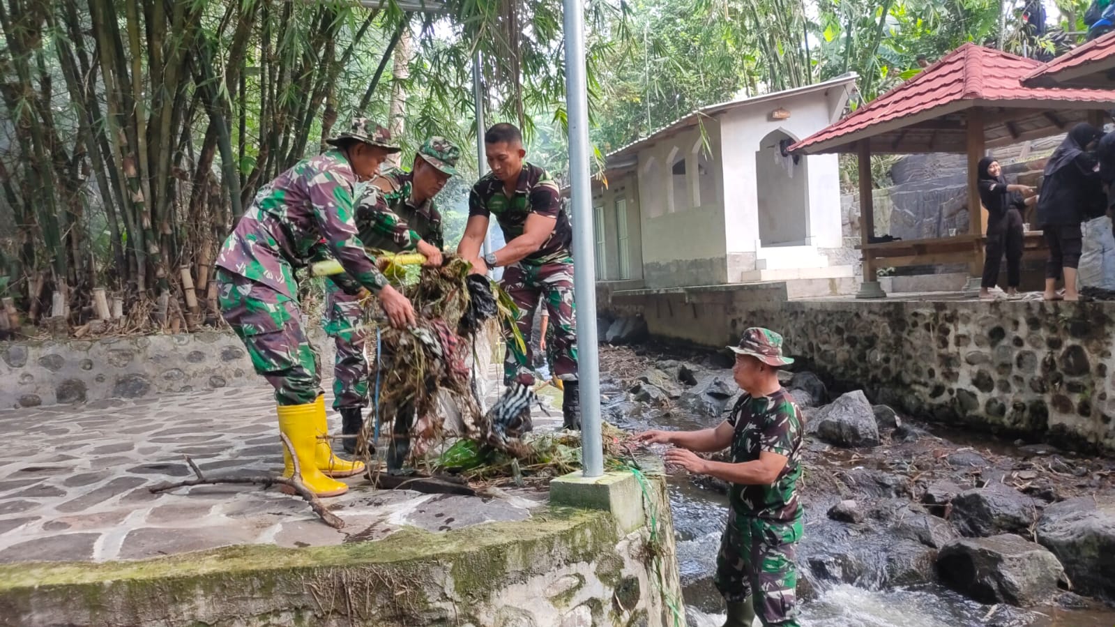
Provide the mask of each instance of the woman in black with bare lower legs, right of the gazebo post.
[{"label": "woman in black with bare lower legs, right of the gazebo post", "polygon": [[1057,279],[1065,277],[1065,300],[1078,300],[1076,267],[1080,262],[1080,223],[1102,215],[1107,204],[1099,182],[1099,166],[1088,151],[1103,133],[1090,124],[1073,127],[1049,157],[1038,201],[1037,221],[1049,244],[1046,263],[1046,300],[1058,300]]}]

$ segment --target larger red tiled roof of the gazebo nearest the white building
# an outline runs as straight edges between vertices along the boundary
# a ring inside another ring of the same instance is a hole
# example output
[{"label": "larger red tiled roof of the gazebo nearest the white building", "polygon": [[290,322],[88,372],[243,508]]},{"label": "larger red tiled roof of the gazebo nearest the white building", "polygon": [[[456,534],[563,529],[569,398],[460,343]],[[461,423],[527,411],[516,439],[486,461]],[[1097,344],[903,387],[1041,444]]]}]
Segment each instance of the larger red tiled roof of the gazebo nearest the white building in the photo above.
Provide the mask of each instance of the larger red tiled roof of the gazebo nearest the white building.
[{"label": "larger red tiled roof of the gazebo nearest the white building", "polygon": [[[1060,127],[1066,122],[1072,122],[1067,116],[1065,118],[1053,116],[1053,120],[1046,122],[1045,119],[1050,116],[1043,116],[1038,109],[1049,112],[1066,108],[1102,109],[1106,108],[1108,103],[1115,102],[1115,91],[1045,89],[1022,85],[1021,77],[1032,73],[1040,65],[1034,59],[966,44],[914,78],[860,107],[852,115],[794,144],[791,149],[805,153],[849,152],[853,149],[853,142],[885,133],[893,135],[888,138],[884,146],[890,148],[893,145],[893,151],[886,152],[910,152],[900,149],[904,137],[911,139],[913,137],[908,133],[937,133],[943,137],[942,149],[957,149],[959,136],[959,146],[962,151],[962,120],[952,120],[954,127],[940,126],[942,128],[940,132],[927,128],[934,124],[933,120],[946,116],[954,118],[954,114],[977,106],[1035,109],[1032,119],[1019,118],[1004,123],[1011,128],[1009,133],[1017,139],[1020,134],[1032,136],[1041,133],[1044,124],[1049,125],[1049,133],[1057,133],[1063,131]],[[1089,106],[1090,104],[1097,106]],[[985,120],[988,125],[996,123],[992,115],[987,116]],[[1006,133],[1004,131],[1004,135]],[[930,147],[932,144],[931,138]]]}]

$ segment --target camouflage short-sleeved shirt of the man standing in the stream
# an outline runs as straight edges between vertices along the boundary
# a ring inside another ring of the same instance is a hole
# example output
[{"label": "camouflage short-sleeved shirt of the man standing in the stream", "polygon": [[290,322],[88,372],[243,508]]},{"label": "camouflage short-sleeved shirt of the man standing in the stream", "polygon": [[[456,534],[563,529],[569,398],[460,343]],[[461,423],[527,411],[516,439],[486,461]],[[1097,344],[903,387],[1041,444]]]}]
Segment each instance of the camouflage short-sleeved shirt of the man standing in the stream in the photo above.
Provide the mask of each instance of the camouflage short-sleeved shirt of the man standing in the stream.
[{"label": "camouflage short-sleeved shirt of the man standing in the stream", "polygon": [[733,463],[753,462],[760,452],[785,455],[788,461],[770,485],[731,484],[729,498],[737,515],[793,522],[802,515],[797,480],[802,476],[802,411],[785,390],[770,396],[745,394],[731,408],[728,424]]}]

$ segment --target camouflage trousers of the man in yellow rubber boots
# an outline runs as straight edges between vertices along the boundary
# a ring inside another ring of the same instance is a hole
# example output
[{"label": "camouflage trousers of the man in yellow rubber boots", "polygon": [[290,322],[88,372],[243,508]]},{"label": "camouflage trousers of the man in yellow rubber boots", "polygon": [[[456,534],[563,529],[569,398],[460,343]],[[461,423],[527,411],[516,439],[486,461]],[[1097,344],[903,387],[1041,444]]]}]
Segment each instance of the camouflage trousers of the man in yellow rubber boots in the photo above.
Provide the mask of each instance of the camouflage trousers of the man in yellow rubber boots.
[{"label": "camouflage trousers of the man in yellow rubber boots", "polygon": [[244,343],[255,373],[275,388],[279,405],[306,405],[321,395],[318,354],[302,329],[298,301],[219,268],[221,316]]}]

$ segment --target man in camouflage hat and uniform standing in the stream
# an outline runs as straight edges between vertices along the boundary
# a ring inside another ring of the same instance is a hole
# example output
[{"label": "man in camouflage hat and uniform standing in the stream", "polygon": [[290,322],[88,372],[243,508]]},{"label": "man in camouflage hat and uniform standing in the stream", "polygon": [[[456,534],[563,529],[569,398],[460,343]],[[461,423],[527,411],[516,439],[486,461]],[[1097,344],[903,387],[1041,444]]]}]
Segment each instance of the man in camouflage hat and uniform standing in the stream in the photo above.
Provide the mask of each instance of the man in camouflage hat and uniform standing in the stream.
[{"label": "man in camouflage hat and uniform standing in the stream", "polygon": [[[666,462],[730,483],[728,523],[716,560],[716,586],[728,605],[725,627],[797,623],[794,550],[802,539],[802,412],[778,383],[778,367],[793,363],[782,355],[782,336],[749,328],[738,346],[733,370],[744,395],[716,428],[695,432],[649,431],[644,442],[678,446]],[[730,446],[731,462],[710,462],[694,454]]]}]

